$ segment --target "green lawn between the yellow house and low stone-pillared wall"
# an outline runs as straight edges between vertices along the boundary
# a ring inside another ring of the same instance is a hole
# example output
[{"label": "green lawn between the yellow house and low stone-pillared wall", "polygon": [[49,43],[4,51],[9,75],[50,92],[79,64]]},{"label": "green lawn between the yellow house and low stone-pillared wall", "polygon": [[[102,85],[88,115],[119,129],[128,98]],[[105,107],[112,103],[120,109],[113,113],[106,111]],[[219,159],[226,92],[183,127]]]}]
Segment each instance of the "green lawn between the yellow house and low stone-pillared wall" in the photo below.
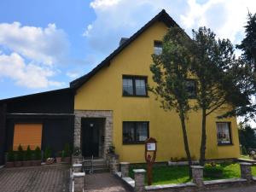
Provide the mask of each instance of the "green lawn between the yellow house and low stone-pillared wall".
[{"label": "green lawn between the yellow house and low stone-pillared wall", "polygon": [[[214,180],[223,178],[237,178],[241,177],[240,166],[237,163],[221,164],[224,167],[222,177],[204,177],[204,180]],[[146,165],[132,165],[130,166],[130,177],[134,177],[133,169],[146,169]],[[256,166],[252,167],[253,176],[256,176]],[[147,177],[146,177],[147,180]],[[146,181],[147,182],[147,181]],[[167,183],[187,183],[189,179],[189,166],[165,166],[154,165],[153,168],[153,184],[167,184]]]}]

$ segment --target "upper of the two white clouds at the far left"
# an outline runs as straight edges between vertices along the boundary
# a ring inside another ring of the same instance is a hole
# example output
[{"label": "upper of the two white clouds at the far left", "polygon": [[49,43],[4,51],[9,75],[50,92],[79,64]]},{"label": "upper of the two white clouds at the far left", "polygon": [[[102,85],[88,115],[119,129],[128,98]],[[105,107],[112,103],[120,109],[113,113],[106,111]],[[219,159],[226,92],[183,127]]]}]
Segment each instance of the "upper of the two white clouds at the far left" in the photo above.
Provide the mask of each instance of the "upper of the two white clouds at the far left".
[{"label": "upper of the two white clouds at the far left", "polygon": [[19,22],[0,24],[0,44],[30,59],[52,65],[67,53],[66,33],[55,24],[47,27],[21,26]]}]

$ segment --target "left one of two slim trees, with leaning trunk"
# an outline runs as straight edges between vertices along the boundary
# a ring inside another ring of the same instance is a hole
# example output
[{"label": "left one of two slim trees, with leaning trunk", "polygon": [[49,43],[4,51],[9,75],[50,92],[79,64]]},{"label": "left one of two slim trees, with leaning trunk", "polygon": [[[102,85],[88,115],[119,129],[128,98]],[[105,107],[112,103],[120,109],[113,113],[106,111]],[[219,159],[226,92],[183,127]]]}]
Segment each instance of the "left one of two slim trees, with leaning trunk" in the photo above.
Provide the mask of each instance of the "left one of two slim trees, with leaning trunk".
[{"label": "left one of two slim trees, with leaning trunk", "polygon": [[[187,91],[187,80],[193,57],[190,55],[189,47],[191,40],[179,27],[172,27],[163,39],[163,50],[161,55],[152,55],[154,64],[150,66],[153,73],[155,86],[150,87],[160,100],[160,107],[165,110],[175,110],[178,113],[183,131],[183,143],[189,167],[192,165],[189,152],[189,141],[186,130],[186,119],[189,110],[189,92]],[[189,169],[191,177],[191,170]]]}]

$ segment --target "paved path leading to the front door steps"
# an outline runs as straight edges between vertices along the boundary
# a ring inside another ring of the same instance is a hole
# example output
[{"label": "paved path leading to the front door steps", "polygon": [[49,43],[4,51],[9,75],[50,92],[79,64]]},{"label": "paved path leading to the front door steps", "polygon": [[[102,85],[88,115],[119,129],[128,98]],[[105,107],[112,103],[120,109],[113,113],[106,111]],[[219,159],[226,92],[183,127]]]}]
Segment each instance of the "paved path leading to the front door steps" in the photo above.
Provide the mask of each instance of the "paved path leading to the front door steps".
[{"label": "paved path leading to the front door steps", "polygon": [[96,173],[85,176],[86,192],[131,192],[111,173]]}]

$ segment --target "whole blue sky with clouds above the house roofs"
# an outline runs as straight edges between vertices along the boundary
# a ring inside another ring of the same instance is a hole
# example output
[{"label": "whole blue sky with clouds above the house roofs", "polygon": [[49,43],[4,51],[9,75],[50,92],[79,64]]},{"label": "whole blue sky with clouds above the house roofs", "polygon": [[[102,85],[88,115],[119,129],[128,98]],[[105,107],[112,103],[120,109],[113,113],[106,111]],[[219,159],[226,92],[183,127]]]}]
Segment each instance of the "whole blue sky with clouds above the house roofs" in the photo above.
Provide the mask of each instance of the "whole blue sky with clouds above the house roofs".
[{"label": "whole blue sky with clouds above the house roofs", "polygon": [[67,87],[166,9],[190,34],[207,26],[237,44],[252,0],[2,0],[0,99]]}]

